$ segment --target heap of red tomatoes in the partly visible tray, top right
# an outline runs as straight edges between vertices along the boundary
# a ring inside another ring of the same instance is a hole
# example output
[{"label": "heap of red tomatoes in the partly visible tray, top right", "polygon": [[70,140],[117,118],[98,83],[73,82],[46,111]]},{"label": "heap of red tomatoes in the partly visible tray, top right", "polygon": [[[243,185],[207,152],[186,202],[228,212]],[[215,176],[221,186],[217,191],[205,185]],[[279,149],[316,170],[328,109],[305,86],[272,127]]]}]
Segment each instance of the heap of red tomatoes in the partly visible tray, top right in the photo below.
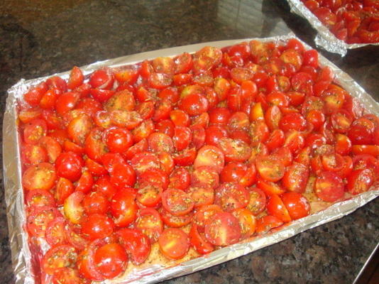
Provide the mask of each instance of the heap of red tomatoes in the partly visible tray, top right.
[{"label": "heap of red tomatoes in the partly visible tray, top right", "polygon": [[378,0],[301,0],[336,38],[379,43]]}]

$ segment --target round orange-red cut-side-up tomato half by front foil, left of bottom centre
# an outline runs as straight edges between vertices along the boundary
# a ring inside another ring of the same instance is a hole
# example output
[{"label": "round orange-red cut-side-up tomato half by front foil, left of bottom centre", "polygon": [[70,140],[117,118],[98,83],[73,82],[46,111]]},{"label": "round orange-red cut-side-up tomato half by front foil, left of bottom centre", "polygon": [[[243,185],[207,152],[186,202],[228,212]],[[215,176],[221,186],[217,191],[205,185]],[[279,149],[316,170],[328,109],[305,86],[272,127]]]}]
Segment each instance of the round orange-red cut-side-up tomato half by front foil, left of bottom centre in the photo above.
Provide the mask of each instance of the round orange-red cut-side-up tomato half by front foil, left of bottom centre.
[{"label": "round orange-red cut-side-up tomato half by front foil, left of bottom centre", "polygon": [[[175,246],[172,246],[172,243]],[[158,244],[159,250],[164,256],[170,259],[179,259],[185,256],[189,250],[189,237],[181,229],[167,228],[160,235]]]}]

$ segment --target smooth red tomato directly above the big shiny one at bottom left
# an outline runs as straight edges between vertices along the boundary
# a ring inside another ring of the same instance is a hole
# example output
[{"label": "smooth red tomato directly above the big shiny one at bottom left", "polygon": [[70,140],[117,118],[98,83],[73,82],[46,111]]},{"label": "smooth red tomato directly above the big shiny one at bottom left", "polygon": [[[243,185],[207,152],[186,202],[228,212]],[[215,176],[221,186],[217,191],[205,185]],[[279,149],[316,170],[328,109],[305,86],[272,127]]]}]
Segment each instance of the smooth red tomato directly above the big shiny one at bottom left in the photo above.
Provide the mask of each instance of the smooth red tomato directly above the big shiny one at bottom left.
[{"label": "smooth red tomato directly above the big shiny one at bottom left", "polygon": [[114,231],[114,222],[105,214],[89,214],[82,223],[82,234],[84,238],[94,241],[110,236]]}]

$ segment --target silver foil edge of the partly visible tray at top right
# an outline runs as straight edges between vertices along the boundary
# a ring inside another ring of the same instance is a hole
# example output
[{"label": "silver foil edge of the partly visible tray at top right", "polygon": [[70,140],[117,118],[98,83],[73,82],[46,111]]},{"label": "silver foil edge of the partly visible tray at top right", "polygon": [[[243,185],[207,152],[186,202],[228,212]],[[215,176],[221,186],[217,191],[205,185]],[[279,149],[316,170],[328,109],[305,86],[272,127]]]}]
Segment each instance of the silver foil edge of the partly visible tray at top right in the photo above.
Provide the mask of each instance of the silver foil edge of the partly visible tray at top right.
[{"label": "silver foil edge of the partly visible tray at top right", "polygon": [[291,12],[296,13],[302,18],[306,18],[314,29],[317,30],[314,42],[317,46],[324,48],[330,53],[338,53],[345,56],[348,49],[361,48],[366,45],[379,45],[379,43],[345,43],[344,40],[339,40],[336,36],[326,28],[324,24],[319,21],[317,16],[314,15],[300,0],[287,0],[290,4]]}]

